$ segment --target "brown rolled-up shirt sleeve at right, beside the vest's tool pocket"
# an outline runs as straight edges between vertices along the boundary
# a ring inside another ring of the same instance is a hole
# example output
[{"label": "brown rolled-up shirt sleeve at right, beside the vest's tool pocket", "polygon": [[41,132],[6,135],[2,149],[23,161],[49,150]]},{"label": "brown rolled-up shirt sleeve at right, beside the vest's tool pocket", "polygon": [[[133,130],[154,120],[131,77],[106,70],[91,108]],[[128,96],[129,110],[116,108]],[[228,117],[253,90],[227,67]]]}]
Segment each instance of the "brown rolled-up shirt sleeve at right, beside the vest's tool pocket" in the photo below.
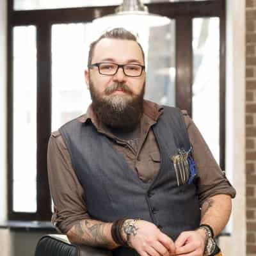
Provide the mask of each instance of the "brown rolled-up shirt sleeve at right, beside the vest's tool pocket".
[{"label": "brown rolled-up shirt sleeve at right, beside the vest's tool pocket", "polygon": [[187,127],[189,141],[193,147],[192,154],[198,174],[196,184],[200,205],[204,203],[205,199],[214,195],[225,194],[234,198],[236,196],[236,190],[228,181],[225,172],[222,172],[220,166],[216,163],[202,134],[186,111],[182,111],[182,113]]}]

